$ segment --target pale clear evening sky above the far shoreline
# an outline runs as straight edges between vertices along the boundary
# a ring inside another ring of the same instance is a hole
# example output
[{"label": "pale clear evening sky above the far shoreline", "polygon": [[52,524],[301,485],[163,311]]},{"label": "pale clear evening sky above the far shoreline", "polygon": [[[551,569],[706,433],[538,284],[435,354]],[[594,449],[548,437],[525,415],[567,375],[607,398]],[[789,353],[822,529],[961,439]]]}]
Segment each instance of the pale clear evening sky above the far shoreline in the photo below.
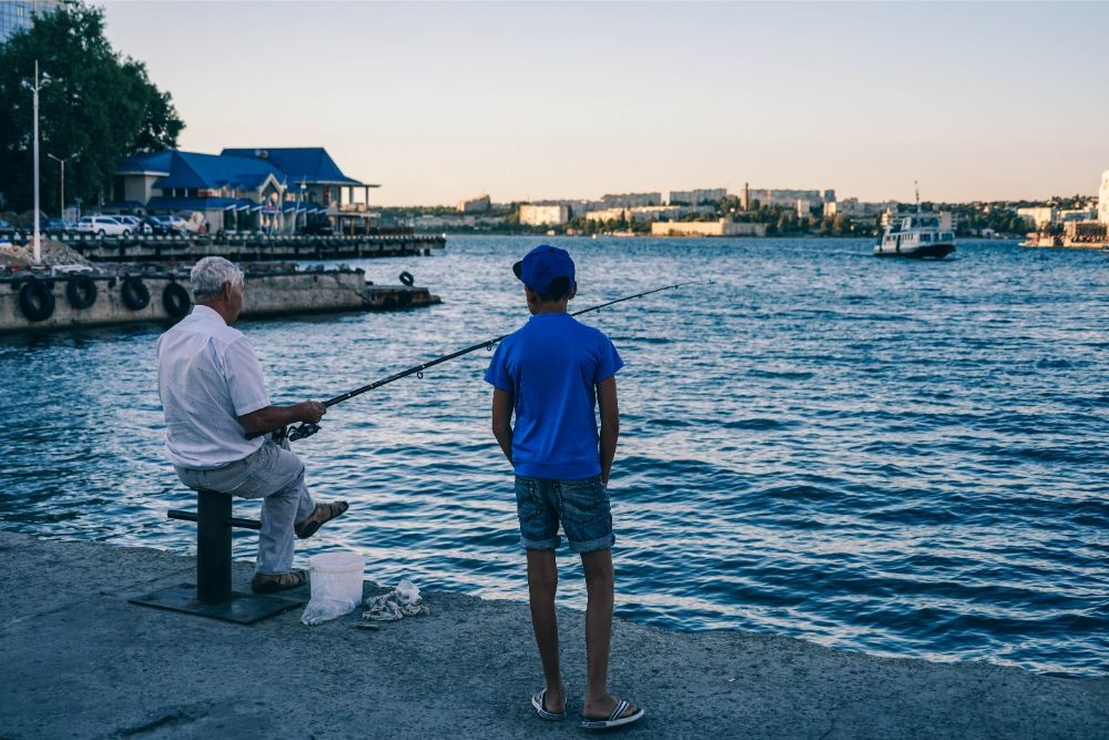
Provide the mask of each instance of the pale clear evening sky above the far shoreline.
[{"label": "pale clear evening sky above the far shoreline", "polygon": [[182,150],[324,146],[379,205],[1095,195],[1109,2],[104,3]]}]

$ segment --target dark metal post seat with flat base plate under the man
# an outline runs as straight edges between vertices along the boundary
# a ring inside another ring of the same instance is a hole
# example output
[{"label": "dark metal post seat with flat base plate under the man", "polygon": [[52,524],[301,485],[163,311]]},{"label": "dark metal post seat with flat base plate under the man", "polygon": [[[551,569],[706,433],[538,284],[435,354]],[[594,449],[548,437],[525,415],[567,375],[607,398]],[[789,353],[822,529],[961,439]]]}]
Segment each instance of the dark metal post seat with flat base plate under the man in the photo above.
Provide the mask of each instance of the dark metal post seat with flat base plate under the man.
[{"label": "dark metal post seat with flat base plate under the man", "polygon": [[195,514],[170,509],[166,516],[196,523],[196,585],[181,584],[163,588],[130,599],[131,604],[253,625],[295,609],[306,601],[231,590],[231,528],[261,529],[262,523],[233,517],[231,496],[227,494],[197,489]]}]

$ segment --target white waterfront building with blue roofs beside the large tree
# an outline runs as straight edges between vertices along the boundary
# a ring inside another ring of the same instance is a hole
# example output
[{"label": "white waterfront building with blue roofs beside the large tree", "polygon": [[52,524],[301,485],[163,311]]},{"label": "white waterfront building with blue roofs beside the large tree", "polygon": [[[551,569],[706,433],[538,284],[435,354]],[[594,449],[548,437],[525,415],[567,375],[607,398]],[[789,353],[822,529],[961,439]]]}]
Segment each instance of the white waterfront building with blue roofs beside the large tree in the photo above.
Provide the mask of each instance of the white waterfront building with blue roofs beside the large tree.
[{"label": "white waterfront building with blue roofs beside the large tree", "polygon": [[[210,231],[292,233],[327,219],[343,231],[365,229],[369,189],[348,178],[323,148],[225,149],[221,154],[167,150],[133,154],[115,170],[115,201],[105,211],[187,213]],[[355,202],[355,192],[364,201]]]}]

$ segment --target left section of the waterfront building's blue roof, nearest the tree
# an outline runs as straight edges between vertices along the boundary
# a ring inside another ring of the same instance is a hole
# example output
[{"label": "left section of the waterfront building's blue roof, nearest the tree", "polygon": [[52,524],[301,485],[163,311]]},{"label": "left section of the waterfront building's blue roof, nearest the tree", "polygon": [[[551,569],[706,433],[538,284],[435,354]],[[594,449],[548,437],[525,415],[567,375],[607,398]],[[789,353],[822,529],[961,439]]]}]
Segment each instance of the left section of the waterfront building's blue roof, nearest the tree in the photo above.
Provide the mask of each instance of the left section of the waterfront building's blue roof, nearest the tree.
[{"label": "left section of the waterfront building's blue roof, nearest the tree", "polygon": [[238,187],[253,190],[273,175],[284,182],[283,172],[255,156],[216,156],[174,150],[133,154],[120,161],[116,172],[167,172],[155,187]]}]

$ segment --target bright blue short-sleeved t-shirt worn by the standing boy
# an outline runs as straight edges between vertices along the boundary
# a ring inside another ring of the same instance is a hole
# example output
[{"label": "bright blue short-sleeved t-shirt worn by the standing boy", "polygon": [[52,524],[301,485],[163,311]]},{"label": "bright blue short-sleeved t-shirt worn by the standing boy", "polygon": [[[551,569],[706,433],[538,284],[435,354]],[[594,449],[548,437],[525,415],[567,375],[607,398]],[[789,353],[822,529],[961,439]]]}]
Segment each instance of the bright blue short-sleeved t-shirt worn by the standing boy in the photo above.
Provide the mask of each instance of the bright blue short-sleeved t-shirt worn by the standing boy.
[{"label": "bright blue short-sleeved t-shirt worn by the standing boy", "polygon": [[566,313],[532,316],[500,343],[485,379],[513,396],[517,475],[600,475],[594,386],[621,367],[609,337]]}]

